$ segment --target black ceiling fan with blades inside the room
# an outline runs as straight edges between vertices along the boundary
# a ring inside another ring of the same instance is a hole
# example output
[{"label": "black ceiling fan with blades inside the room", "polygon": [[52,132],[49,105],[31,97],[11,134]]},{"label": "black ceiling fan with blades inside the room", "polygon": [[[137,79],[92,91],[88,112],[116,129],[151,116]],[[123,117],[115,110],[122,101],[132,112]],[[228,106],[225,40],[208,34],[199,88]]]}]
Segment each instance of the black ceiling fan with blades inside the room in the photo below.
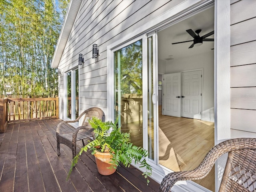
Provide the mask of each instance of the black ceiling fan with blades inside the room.
[{"label": "black ceiling fan with blades inside the room", "polygon": [[[214,41],[213,38],[206,39],[206,37],[211,36],[212,34],[214,34],[214,31],[212,31],[212,32],[210,32],[208,34],[205,34],[204,36],[200,37],[199,33],[201,31],[202,31],[201,29],[198,29],[198,30],[195,31],[196,32],[195,33],[192,29],[186,30],[186,32],[188,32],[188,34],[190,34],[194,38],[194,40],[190,40],[190,41],[193,41],[193,43],[192,43],[192,45],[190,45],[189,48],[192,48],[194,46],[200,46],[200,45],[203,44],[203,41]],[[190,41],[182,41],[182,42],[177,42],[177,43],[172,43],[172,44],[185,43],[185,42],[190,42]]]}]

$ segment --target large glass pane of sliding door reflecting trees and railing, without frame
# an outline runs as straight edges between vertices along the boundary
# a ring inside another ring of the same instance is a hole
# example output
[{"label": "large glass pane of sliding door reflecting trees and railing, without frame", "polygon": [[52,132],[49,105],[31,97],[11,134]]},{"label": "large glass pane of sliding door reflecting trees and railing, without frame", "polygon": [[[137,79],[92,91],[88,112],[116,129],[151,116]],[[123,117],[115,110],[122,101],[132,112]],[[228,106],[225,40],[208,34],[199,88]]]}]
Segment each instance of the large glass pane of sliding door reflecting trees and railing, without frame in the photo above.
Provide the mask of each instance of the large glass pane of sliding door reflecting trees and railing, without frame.
[{"label": "large glass pane of sliding door reflecting trees and railing, without frame", "polygon": [[114,52],[116,116],[122,132],[131,142],[143,146],[142,40]]}]

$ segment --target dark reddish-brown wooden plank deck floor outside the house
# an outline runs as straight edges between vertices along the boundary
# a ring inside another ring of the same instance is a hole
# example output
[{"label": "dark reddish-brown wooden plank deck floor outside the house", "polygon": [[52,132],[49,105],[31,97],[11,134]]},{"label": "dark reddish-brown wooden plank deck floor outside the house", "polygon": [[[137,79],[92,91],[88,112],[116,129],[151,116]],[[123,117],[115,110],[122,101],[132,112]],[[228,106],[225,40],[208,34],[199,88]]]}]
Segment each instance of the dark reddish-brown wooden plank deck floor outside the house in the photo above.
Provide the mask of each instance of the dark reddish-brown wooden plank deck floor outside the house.
[{"label": "dark reddish-brown wooden plank deck floor outside the house", "polygon": [[[110,176],[98,173],[94,156],[83,153],[66,181],[72,151],[60,145],[56,126],[60,119],[8,124],[0,134],[0,192],[154,192],[159,184],[146,180],[138,169],[119,167]],[[68,131],[71,126],[66,126]],[[82,142],[80,143],[82,146]],[[78,148],[79,150],[79,148]]]}]

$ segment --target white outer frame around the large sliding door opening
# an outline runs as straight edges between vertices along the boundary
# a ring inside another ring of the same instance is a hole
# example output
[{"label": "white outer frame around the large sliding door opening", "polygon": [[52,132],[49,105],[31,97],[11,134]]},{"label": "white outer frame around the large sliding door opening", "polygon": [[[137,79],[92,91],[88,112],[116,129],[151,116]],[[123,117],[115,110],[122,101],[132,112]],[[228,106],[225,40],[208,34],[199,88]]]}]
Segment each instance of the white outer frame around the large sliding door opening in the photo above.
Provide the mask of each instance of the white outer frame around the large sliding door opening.
[{"label": "white outer frame around the large sliding door opening", "polygon": [[[230,1],[214,0],[194,0],[184,1],[178,6],[166,11],[162,15],[150,20],[143,26],[140,26],[133,32],[128,33],[119,40],[112,42],[107,46],[107,120],[114,119],[114,58],[112,50],[125,42],[135,39],[143,34],[168,27],[170,24],[180,22],[190,17],[198,11],[205,10],[214,6],[214,116],[215,116],[215,144],[230,138]],[[144,58],[144,56],[143,56]],[[218,93],[218,94],[217,94]],[[223,100],[225,98],[225,100]],[[228,117],[228,118],[227,118]],[[216,189],[220,185],[223,165],[217,163],[215,171]],[[152,177],[161,182],[162,178],[168,174],[164,168],[154,167]],[[186,182],[190,191],[193,190],[193,184]],[[182,187],[181,185],[179,185]],[[184,186],[184,185],[183,185]],[[180,188],[179,188],[180,189]],[[198,188],[197,188],[198,189]],[[198,191],[198,190],[194,190]],[[204,190],[202,190],[204,191]]]}]

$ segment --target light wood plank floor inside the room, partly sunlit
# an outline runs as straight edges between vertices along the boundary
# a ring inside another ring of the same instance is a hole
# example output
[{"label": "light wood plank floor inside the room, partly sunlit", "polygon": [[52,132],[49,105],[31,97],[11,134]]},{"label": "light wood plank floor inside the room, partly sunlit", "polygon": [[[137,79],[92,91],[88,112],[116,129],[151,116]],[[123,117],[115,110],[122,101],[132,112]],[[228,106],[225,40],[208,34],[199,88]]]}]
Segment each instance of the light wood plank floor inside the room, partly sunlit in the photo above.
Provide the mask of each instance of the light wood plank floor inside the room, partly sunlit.
[{"label": "light wood plank floor inside the room, partly sunlit", "polygon": [[[159,106],[159,163],[174,171],[192,170],[214,146],[214,122],[162,115]],[[214,168],[196,183],[214,191]]]}]

